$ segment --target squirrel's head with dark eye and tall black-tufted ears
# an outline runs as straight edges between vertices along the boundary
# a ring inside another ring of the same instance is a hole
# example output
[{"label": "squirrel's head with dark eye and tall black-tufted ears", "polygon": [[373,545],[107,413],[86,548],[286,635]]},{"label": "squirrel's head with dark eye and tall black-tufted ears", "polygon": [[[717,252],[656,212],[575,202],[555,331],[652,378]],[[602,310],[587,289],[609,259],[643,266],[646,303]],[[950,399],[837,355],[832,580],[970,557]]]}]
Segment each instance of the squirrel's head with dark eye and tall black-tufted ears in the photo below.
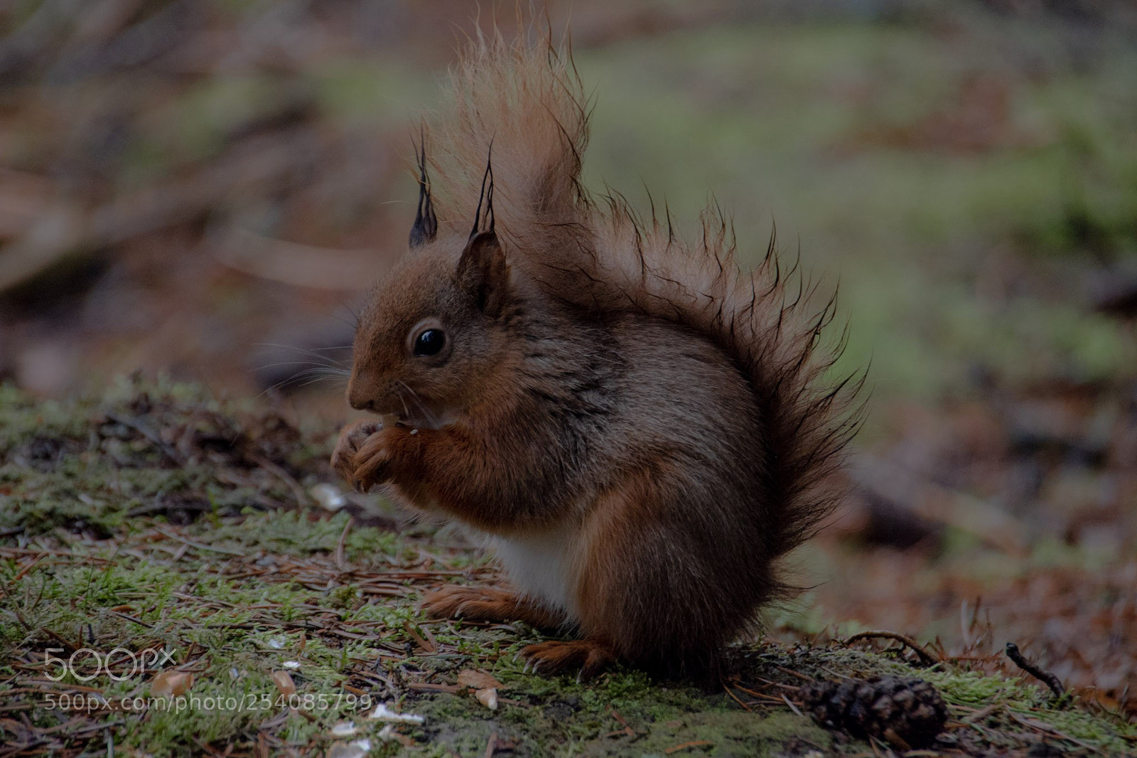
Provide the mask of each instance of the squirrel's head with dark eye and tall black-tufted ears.
[{"label": "squirrel's head with dark eye and tall black-tufted ears", "polygon": [[485,231],[479,203],[474,232],[437,239],[425,156],[410,252],[375,288],[356,329],[348,402],[393,414],[410,426],[438,427],[460,413],[500,368],[509,266],[493,231],[492,173]]}]

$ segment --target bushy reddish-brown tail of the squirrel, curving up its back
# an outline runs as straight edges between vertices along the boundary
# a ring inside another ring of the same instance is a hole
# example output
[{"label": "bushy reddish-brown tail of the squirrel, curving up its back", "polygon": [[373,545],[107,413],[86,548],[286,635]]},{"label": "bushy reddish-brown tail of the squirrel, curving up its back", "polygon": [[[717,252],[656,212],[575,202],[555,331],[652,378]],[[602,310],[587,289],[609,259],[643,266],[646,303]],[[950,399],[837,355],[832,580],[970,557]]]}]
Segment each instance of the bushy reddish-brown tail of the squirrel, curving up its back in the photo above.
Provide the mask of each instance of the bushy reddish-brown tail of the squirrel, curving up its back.
[{"label": "bushy reddish-brown tail of the squirrel, curving up its back", "polygon": [[766,554],[811,536],[832,508],[822,479],[860,418],[861,382],[824,376],[840,351],[821,337],[833,302],[812,307],[800,274],[789,277],[789,296],[773,238],[762,262],[741,271],[717,208],[704,212],[702,239],[690,241],[670,214],[641,220],[622,198],[583,190],[589,104],[571,53],[548,38],[533,46],[479,36],[449,94],[430,143],[448,215],[472,217],[491,155],[497,230],[512,265],[582,311],[644,313],[719,345],[749,380],[765,429],[755,440],[767,451],[765,492],[755,496],[770,514]]}]

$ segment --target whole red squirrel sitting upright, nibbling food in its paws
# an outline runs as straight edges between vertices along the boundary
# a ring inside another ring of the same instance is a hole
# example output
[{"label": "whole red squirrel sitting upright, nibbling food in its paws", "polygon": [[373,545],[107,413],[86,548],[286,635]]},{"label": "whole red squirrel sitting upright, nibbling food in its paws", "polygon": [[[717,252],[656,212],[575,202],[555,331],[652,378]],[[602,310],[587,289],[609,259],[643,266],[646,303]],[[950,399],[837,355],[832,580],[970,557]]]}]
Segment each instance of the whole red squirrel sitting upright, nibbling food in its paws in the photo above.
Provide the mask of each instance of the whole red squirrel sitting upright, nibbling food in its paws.
[{"label": "whole red squirrel sitting upright, nibbling food in its paws", "polygon": [[713,670],[831,512],[857,418],[856,382],[823,376],[832,302],[787,296],[772,240],[740,270],[721,212],[686,241],[587,191],[562,47],[479,38],[448,97],[355,336],[347,397],[381,420],[332,463],[492,546],[509,585],[445,586],[429,615],[572,631],[522,651],[547,674]]}]

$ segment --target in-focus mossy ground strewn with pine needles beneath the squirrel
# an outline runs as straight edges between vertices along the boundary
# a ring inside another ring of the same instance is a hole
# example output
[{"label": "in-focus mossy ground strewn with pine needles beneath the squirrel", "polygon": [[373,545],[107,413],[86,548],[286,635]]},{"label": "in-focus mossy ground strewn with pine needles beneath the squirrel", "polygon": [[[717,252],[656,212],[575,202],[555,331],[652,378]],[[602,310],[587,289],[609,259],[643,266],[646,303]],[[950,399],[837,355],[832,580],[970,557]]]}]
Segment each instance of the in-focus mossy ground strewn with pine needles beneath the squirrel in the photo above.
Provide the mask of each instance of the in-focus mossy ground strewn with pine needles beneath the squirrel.
[{"label": "in-focus mossy ground strewn with pine needles beneath the squirrel", "polygon": [[326,428],[165,381],[67,403],[2,387],[0,407],[0,756],[886,755],[800,714],[811,682],[879,675],[949,706],[911,756],[1137,751],[1123,714],[1013,666],[792,624],[736,645],[713,686],[533,676],[533,629],[417,611],[492,565],[340,493]]}]

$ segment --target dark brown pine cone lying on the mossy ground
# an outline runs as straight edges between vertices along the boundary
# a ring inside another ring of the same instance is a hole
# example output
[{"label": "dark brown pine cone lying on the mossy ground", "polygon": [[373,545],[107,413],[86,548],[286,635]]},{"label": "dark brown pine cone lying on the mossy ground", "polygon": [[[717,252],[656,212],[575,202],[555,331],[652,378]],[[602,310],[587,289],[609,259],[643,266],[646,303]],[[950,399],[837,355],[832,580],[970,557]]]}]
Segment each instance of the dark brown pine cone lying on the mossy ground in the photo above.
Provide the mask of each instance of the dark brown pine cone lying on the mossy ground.
[{"label": "dark brown pine cone lying on the mossy ground", "polygon": [[849,682],[819,682],[803,691],[805,707],[822,726],[854,736],[874,736],[897,747],[931,744],[944,730],[947,706],[928,682],[879,676]]}]

